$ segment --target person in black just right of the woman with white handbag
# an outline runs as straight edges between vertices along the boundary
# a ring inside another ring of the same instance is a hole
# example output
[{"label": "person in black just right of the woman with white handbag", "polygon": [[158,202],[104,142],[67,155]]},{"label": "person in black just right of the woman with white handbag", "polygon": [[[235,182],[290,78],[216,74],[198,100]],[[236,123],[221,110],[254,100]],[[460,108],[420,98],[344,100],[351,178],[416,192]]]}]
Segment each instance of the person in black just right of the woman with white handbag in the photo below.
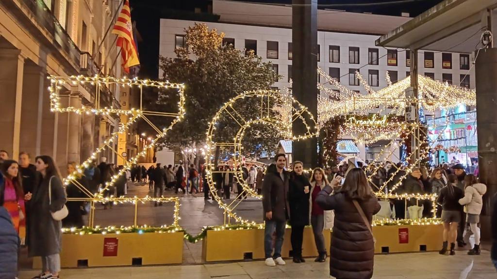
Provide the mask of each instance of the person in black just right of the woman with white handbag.
[{"label": "person in black just right of the woman with white handbag", "polygon": [[[76,162],[67,163],[67,172],[72,174],[76,171]],[[53,183],[53,181],[52,181]],[[76,172],[75,181],[71,181],[69,185],[66,187],[66,193],[68,198],[87,198],[88,196],[81,191],[78,186],[83,186],[85,189],[88,189],[88,181],[83,173]],[[53,185],[52,185],[53,187]],[[53,190],[53,189],[52,189]],[[67,209],[69,210],[69,214],[64,220],[62,220],[62,224],[66,228],[83,227],[83,208],[84,202],[81,201],[70,201],[67,203]]]}]

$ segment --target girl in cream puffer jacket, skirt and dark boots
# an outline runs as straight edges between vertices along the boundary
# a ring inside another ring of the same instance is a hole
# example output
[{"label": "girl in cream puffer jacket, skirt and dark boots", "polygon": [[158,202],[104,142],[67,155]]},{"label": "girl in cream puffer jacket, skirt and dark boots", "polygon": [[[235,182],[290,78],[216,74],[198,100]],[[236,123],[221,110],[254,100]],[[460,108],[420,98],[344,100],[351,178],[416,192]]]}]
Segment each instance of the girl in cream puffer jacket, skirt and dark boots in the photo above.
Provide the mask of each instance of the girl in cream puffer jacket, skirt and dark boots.
[{"label": "girl in cream puffer jacket, skirt and dark boots", "polygon": [[[466,175],[464,178],[464,198],[459,200],[459,204],[464,206],[464,212],[467,213],[466,222],[469,224],[471,232],[475,234],[475,247],[468,251],[468,255],[480,255],[480,213],[483,208],[483,195],[487,192],[487,186],[478,183],[476,177],[472,174]],[[468,235],[469,231],[466,227],[464,236]]]}]

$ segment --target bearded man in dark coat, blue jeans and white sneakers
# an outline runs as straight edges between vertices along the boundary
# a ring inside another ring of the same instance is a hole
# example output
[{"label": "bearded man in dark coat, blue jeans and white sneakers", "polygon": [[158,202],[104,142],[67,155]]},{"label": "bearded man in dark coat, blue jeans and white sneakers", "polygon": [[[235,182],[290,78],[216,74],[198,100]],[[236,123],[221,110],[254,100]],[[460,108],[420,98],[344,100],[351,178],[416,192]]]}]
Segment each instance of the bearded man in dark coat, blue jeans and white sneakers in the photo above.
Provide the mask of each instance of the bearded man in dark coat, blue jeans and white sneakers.
[{"label": "bearded man in dark coat, blue jeans and white sneakers", "polygon": [[[262,182],[265,263],[271,267],[274,267],[276,263],[285,265],[285,261],[281,258],[281,246],[283,245],[286,220],[290,218],[290,206],[288,204],[289,175],[284,170],[286,166],[285,154],[276,154],[274,161],[276,164],[269,165]],[[272,236],[275,230],[276,242],[274,244],[274,254],[271,256],[273,252]]]}]

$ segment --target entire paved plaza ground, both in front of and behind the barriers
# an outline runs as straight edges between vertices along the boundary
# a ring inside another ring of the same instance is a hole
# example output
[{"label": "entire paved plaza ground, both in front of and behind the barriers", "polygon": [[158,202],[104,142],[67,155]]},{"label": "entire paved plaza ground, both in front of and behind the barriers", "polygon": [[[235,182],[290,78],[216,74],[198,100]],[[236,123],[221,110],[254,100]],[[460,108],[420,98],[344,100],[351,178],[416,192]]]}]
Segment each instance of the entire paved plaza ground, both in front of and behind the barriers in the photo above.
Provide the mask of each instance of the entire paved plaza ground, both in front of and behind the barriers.
[{"label": "entire paved plaza ground, both in front of and behind the barriers", "polygon": [[[148,184],[131,184],[128,196],[144,197],[149,192]],[[203,226],[223,224],[223,210],[212,200],[205,201],[203,193],[195,195],[174,195],[166,191],[165,196],[181,197],[180,225],[192,234],[199,233]],[[235,194],[232,194],[235,197]],[[258,200],[248,199],[237,208],[239,215],[262,221],[262,205]],[[138,223],[147,225],[170,224],[173,220],[172,203],[162,207],[153,204],[140,204]],[[132,225],[134,207],[117,205],[104,210],[97,206],[95,224]],[[486,247],[487,246],[487,247]],[[488,245],[483,245],[488,249]],[[330,278],[328,261],[314,263],[309,259],[305,264],[294,264],[287,260],[286,266],[266,267],[263,261],[237,263],[204,264],[202,262],[202,242],[184,242],[183,265],[119,268],[65,269],[62,278],[69,279],[262,279],[262,278]],[[31,278],[37,271],[23,269],[20,278]],[[458,251],[456,256],[440,256],[438,253],[406,253],[375,256],[374,278],[378,279],[497,279],[497,272],[490,261],[488,250],[481,256],[468,256],[466,251]]]}]

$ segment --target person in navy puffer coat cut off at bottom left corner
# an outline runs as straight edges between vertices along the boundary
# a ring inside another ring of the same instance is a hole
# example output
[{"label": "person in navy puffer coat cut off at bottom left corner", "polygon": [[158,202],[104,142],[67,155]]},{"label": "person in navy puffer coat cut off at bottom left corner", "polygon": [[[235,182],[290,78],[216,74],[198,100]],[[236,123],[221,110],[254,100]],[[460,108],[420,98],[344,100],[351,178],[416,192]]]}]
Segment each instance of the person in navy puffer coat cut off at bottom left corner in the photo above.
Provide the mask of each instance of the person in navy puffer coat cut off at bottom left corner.
[{"label": "person in navy puffer coat cut off at bottom left corner", "polygon": [[[1,174],[0,174],[1,178]],[[19,236],[3,207],[3,187],[0,184],[0,278],[11,279],[17,276],[17,251]]]}]

